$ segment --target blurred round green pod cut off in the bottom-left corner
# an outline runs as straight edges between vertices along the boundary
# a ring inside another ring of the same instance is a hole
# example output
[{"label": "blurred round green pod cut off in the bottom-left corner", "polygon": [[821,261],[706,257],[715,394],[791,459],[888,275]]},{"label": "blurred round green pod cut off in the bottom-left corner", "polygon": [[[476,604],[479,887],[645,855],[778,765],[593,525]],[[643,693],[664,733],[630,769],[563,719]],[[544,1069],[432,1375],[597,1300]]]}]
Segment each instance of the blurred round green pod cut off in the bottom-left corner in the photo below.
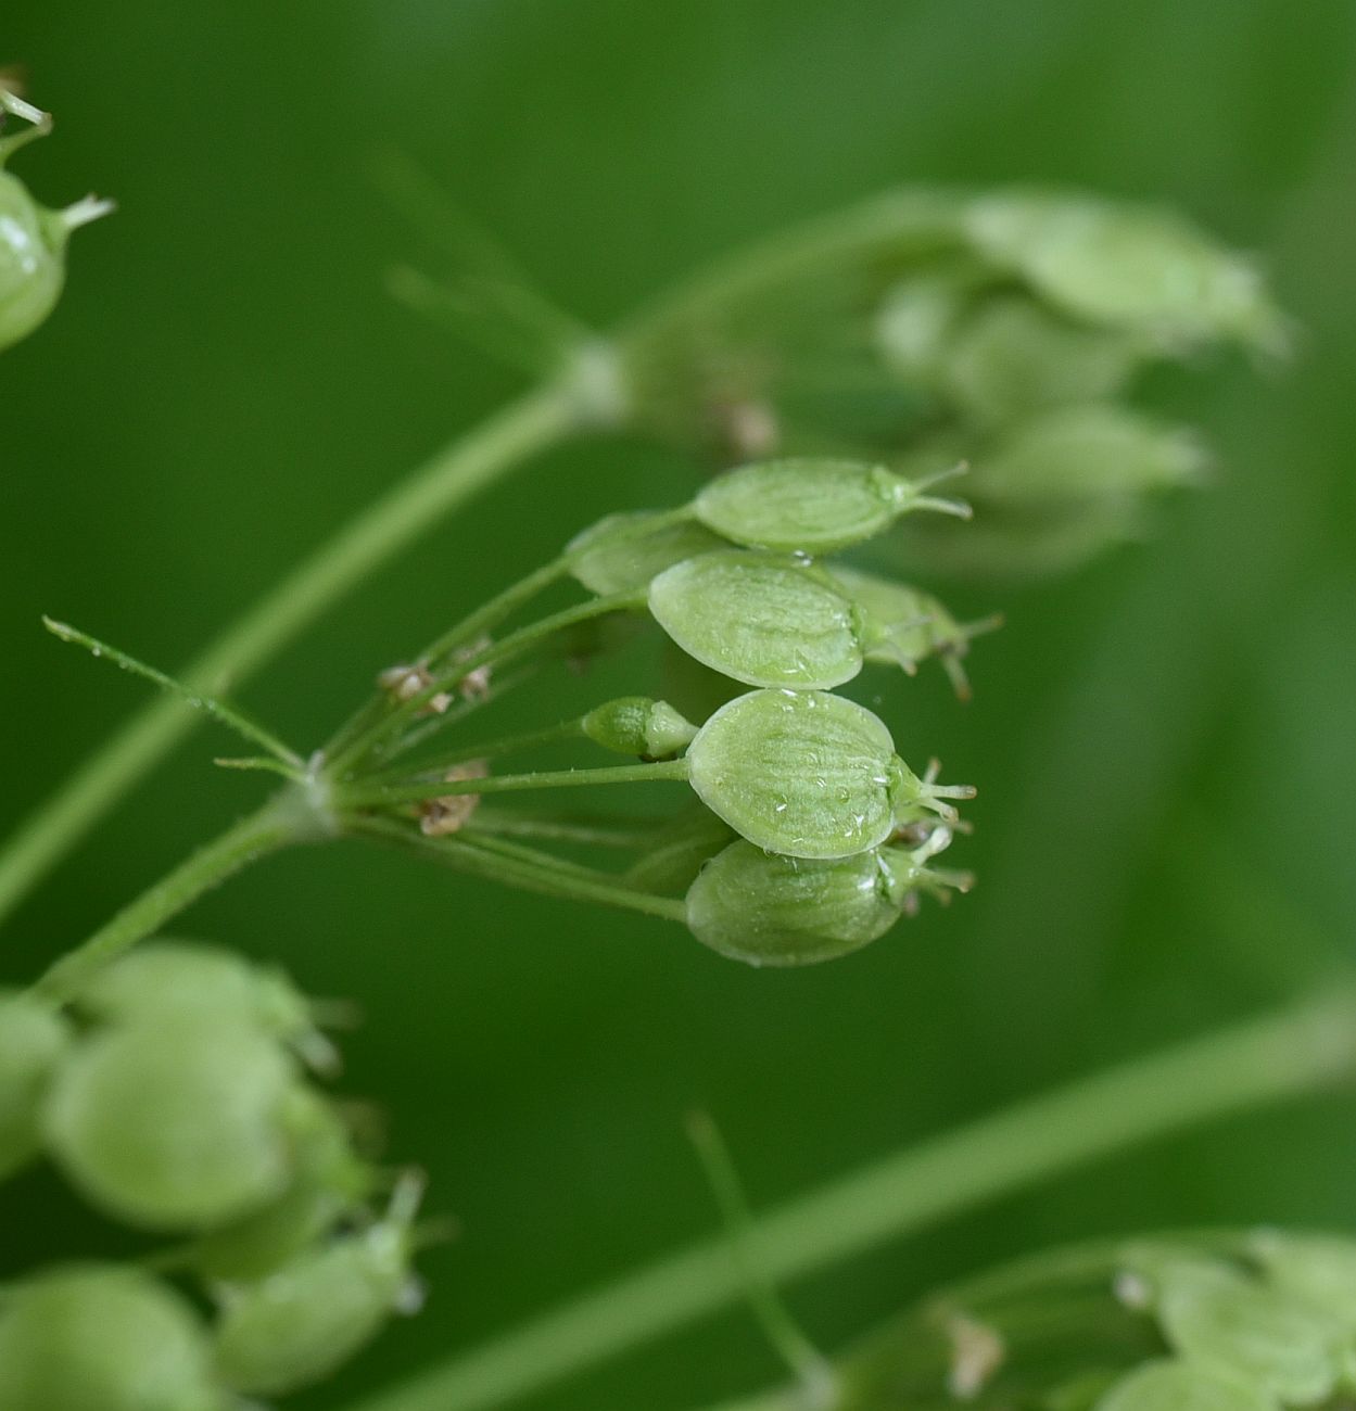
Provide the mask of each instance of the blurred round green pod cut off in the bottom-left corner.
[{"label": "blurred round green pod cut off in the bottom-left corner", "polygon": [[150,1274],[73,1266],[0,1304],[4,1411],[224,1411],[193,1309]]}]

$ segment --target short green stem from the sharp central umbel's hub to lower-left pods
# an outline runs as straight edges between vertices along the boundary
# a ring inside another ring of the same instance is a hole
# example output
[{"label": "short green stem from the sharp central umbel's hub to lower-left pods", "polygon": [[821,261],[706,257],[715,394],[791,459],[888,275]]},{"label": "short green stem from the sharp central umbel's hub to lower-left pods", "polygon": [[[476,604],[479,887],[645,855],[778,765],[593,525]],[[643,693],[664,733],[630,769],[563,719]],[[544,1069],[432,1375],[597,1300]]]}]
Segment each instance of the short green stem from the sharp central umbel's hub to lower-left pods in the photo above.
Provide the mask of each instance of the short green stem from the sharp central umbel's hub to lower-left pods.
[{"label": "short green stem from the sharp central umbel's hub to lower-left pods", "polygon": [[199,848],[86,941],[48,967],[32,992],[54,1003],[65,1003],[85,988],[96,971],[151,935],[205,892],[257,858],[315,837],[315,816],[298,807],[302,797],[296,790],[286,789]]}]

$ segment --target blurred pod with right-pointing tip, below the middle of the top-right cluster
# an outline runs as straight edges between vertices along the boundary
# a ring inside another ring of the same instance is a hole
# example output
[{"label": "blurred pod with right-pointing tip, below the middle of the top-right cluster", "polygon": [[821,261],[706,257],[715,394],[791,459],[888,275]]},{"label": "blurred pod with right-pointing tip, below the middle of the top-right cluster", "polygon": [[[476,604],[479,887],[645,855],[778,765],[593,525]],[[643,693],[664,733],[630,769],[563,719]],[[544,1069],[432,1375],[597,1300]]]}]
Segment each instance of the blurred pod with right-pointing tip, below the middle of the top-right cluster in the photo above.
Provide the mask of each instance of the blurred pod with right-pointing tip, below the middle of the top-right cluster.
[{"label": "blurred pod with right-pointing tip, below the middle of the top-right cluster", "polygon": [[1079,499],[1133,499],[1198,481],[1208,457],[1195,436],[1113,404],[1044,412],[976,457],[975,495],[1037,509]]}]

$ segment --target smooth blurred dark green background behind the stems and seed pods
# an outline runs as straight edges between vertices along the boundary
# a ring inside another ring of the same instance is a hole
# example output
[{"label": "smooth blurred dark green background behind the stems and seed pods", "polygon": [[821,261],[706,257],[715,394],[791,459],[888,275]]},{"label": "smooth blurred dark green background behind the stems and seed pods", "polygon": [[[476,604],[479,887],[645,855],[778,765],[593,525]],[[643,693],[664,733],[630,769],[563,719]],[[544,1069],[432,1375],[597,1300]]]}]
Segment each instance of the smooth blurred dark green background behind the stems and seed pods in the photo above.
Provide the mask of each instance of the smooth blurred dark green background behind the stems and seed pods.
[{"label": "smooth blurred dark green background behind the stems and seed pods", "polygon": [[[10,7],[58,135],[17,169],[90,186],[68,296],[0,375],[7,828],[143,698],[66,617],[188,658],[406,467],[518,389],[392,305],[411,240],[364,174],[395,144],[607,323],[732,243],[896,182],[1053,181],[1174,202],[1261,254],[1304,329],[1259,381],[1174,380],[1225,474],[1009,625],[890,684],[904,738],[975,780],[981,875],[848,961],[759,974],[674,928],[480,889],[357,845],[282,856],[185,927],[353,995],[349,1085],[460,1239],[375,1384],[714,1225],[682,1132],[708,1105],[752,1198],[1326,982],[1356,913],[1356,86],[1349,0],[130,0]],[[552,454],[440,525],[243,693],[319,741],[373,672],[600,514],[696,467]],[[31,975],[250,804],[198,735],[4,938]],[[909,751],[906,749],[906,753]],[[1218,1125],[793,1290],[825,1346],[931,1283],[1065,1237],[1356,1223],[1356,1102]],[[100,1243],[103,1242],[103,1243]],[[111,1247],[41,1174],[0,1274]],[[742,1312],[539,1400],[679,1408],[772,1380]]]}]

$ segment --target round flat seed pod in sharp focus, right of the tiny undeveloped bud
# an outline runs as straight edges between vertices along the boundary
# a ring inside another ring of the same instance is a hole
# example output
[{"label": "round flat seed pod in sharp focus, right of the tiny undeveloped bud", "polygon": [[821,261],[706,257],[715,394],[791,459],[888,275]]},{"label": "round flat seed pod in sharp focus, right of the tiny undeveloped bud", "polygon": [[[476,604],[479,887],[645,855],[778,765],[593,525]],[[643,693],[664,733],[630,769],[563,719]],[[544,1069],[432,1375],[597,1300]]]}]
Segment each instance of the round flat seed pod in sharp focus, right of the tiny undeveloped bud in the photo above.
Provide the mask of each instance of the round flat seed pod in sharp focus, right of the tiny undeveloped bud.
[{"label": "round flat seed pod in sharp focus, right of the tiny undeveloped bud", "polygon": [[824,691],[749,691],[722,706],[687,751],[701,801],[749,842],[794,858],[847,858],[900,821],[954,817],[940,789],[895,753],[883,722]]}]

